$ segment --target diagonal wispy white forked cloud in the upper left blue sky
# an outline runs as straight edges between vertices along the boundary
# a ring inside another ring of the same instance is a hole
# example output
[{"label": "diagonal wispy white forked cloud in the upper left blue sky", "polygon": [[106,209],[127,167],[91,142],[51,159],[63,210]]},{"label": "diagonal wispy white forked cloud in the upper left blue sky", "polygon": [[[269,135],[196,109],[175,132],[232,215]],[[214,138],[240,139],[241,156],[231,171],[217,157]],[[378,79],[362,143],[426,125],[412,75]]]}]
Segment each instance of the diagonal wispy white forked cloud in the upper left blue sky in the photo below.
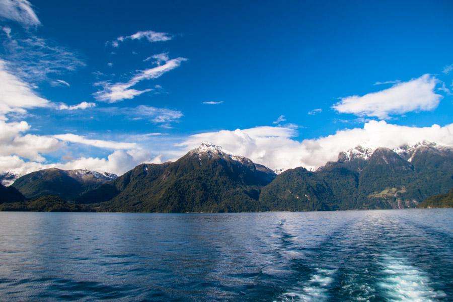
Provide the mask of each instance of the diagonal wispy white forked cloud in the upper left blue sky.
[{"label": "diagonal wispy white forked cloud in the upper left blue sky", "polygon": [[145,92],[152,91],[153,89],[136,90],[131,89],[132,86],[144,80],[152,80],[161,77],[164,73],[173,70],[181,65],[181,62],[186,61],[186,58],[178,57],[168,60],[163,65],[158,65],[153,68],[140,70],[134,75],[127,83],[98,82],[96,86],[102,86],[103,90],[94,93],[96,100],[107,103],[116,103],[125,99],[133,99]]}]

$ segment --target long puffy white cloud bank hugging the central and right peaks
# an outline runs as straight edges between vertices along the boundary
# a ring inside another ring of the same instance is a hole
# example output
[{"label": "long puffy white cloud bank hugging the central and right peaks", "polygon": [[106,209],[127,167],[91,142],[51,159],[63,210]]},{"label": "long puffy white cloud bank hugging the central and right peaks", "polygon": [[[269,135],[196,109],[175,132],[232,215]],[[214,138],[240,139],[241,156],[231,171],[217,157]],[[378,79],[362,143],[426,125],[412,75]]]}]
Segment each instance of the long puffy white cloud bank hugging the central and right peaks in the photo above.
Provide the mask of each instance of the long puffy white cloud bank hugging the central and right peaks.
[{"label": "long puffy white cloud bank hugging the central and right peaks", "polygon": [[189,150],[209,141],[271,169],[317,169],[328,161],[335,161],[341,151],[359,144],[371,148],[396,148],[428,140],[453,146],[453,124],[409,127],[385,121],[369,121],[363,128],[338,130],[335,134],[315,139],[297,141],[294,139],[296,135],[296,130],[288,127],[221,130],[192,135],[179,146]]}]

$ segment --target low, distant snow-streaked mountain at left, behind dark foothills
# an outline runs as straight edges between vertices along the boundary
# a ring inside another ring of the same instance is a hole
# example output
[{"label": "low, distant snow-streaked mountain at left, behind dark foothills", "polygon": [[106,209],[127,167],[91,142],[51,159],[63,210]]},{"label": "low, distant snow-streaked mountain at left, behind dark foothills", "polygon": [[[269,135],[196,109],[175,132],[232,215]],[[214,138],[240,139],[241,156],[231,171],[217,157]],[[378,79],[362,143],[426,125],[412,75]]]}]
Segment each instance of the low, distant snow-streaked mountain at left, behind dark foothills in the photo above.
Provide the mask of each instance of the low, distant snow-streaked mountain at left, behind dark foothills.
[{"label": "low, distant snow-streaked mountain at left, behind dark foothills", "polygon": [[93,190],[115,178],[114,174],[85,169],[66,171],[50,168],[24,175],[12,186],[29,199],[56,195],[65,200],[73,200],[84,192]]}]

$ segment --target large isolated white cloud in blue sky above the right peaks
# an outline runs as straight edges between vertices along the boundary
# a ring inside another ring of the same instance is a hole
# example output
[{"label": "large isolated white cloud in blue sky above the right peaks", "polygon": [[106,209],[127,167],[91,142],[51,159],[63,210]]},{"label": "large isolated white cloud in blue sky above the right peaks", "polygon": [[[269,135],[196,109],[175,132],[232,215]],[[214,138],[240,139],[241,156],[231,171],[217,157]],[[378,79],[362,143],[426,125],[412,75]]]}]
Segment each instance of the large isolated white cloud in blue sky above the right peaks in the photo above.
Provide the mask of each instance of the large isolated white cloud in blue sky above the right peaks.
[{"label": "large isolated white cloud in blue sky above the right peaks", "polygon": [[442,98],[434,92],[436,84],[434,77],[424,74],[420,78],[398,83],[379,92],[342,98],[332,107],[340,113],[375,116],[380,119],[411,111],[429,111],[435,109]]}]

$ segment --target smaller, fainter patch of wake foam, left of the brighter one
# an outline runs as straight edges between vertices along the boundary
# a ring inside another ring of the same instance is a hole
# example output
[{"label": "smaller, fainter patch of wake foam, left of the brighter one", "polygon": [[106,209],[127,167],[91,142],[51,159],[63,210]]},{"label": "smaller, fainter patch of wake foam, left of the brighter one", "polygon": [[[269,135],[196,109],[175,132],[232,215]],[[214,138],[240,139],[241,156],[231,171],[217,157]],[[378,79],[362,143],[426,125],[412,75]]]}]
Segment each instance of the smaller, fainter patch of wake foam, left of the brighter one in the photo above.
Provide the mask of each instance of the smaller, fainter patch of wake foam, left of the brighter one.
[{"label": "smaller, fainter patch of wake foam, left of the brighter one", "polygon": [[302,284],[300,290],[285,292],[276,301],[327,301],[329,286],[334,280],[335,271],[336,269],[316,268],[316,273],[309,281]]}]

